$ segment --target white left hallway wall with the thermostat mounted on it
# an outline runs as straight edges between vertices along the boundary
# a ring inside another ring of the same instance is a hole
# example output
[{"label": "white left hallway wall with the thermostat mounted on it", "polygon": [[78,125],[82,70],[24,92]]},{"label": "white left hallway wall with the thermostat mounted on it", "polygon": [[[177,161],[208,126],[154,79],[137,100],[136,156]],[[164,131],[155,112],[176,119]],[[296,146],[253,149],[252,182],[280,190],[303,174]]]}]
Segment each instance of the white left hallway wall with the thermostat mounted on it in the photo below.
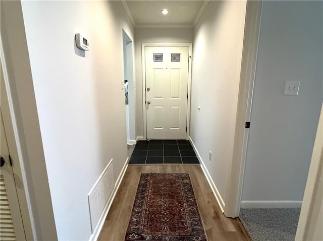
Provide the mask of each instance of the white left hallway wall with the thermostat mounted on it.
[{"label": "white left hallway wall with the thermostat mounted on it", "polygon": [[127,159],[122,29],[134,30],[119,1],[22,7],[58,238],[85,240],[88,192],[111,158],[115,181]]}]

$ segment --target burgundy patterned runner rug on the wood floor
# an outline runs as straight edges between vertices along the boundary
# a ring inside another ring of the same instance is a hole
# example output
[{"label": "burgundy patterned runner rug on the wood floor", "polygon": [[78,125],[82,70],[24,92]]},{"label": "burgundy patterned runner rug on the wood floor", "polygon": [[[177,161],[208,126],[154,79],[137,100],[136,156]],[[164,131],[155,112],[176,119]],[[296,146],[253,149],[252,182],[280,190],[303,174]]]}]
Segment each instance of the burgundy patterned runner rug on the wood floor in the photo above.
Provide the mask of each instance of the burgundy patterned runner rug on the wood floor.
[{"label": "burgundy patterned runner rug on the wood floor", "polygon": [[141,174],[125,241],[206,241],[187,173]]}]

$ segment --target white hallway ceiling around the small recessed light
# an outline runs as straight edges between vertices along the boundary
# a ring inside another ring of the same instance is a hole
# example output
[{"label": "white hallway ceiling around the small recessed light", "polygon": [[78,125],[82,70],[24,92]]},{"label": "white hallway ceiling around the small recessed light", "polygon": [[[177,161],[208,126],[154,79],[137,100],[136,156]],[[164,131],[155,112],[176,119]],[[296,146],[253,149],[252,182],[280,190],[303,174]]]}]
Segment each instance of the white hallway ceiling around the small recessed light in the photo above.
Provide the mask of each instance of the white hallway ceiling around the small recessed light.
[{"label": "white hallway ceiling around the small recessed light", "polygon": [[[194,27],[209,1],[122,1],[132,22],[137,27]],[[161,10],[168,9],[168,15]]]}]

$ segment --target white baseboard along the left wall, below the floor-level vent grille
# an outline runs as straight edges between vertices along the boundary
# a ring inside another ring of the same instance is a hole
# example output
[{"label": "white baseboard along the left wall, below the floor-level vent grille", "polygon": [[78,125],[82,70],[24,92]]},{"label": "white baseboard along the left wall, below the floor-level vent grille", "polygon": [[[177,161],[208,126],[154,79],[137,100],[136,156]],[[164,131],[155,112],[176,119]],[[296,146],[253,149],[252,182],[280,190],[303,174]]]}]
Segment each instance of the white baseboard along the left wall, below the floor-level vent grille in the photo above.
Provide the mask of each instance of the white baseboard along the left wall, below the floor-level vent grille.
[{"label": "white baseboard along the left wall, below the floor-level vent grille", "polygon": [[118,189],[120,187],[121,181],[122,181],[122,179],[123,179],[123,177],[124,177],[124,175],[126,173],[126,170],[127,170],[127,167],[128,167],[128,162],[129,162],[129,157],[127,157],[127,159],[126,159],[126,162],[125,162],[125,164],[124,164],[124,166],[123,166],[123,168],[121,170],[121,173],[120,173],[120,175],[119,175],[119,177],[117,179],[117,182],[116,182],[115,188],[114,188],[114,190],[112,192],[112,195],[111,195],[109,201],[107,201],[107,203],[106,203],[106,205],[104,207],[104,210],[102,212],[102,215],[101,215],[101,217],[100,217],[100,219],[99,219],[99,221],[98,221],[98,223],[97,223],[97,225],[96,225],[96,227],[94,229],[94,232],[92,233],[92,235],[89,238],[89,241],[96,241],[97,238],[99,237],[99,234],[100,234],[101,229],[103,227],[103,224],[104,224],[105,218],[107,216],[107,213],[109,213],[109,210],[111,208],[112,202],[116,197],[116,194],[117,194],[117,191],[118,191]]}]

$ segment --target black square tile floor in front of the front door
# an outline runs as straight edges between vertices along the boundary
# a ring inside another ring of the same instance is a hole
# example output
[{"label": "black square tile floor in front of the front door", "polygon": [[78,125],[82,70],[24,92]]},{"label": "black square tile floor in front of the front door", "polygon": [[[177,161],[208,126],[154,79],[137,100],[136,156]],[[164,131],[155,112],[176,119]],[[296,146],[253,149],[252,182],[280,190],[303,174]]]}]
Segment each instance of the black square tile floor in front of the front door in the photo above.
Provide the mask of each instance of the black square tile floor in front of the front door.
[{"label": "black square tile floor in front of the front door", "polygon": [[199,164],[188,140],[140,140],[129,164]]}]

